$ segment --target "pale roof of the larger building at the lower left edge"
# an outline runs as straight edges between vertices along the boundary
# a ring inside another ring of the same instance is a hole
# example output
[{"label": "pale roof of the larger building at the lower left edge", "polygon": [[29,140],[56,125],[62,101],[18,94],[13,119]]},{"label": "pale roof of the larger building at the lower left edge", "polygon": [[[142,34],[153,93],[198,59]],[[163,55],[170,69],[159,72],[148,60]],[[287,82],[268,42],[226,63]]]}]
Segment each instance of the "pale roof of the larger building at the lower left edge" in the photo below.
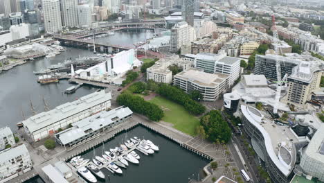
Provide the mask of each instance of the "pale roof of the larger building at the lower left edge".
[{"label": "pale roof of the larger building at the lower left edge", "polygon": [[26,154],[29,155],[25,144],[22,144],[21,146],[17,146],[15,148],[3,150],[0,152],[0,164],[2,165],[8,162],[10,159],[14,159],[15,157]]}]

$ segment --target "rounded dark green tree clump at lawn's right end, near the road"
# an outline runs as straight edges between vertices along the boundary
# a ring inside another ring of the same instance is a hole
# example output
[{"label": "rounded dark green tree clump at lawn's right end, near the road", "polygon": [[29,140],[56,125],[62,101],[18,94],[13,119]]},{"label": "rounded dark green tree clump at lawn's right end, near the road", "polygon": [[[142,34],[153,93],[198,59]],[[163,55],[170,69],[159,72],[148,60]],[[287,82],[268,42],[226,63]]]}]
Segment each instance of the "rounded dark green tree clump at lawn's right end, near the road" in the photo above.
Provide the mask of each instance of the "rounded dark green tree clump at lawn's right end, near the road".
[{"label": "rounded dark green tree clump at lawn's right end, near the road", "polygon": [[227,143],[231,139],[231,128],[223,119],[222,114],[217,110],[211,110],[200,119],[200,123],[204,126],[207,139],[210,141],[224,141]]}]

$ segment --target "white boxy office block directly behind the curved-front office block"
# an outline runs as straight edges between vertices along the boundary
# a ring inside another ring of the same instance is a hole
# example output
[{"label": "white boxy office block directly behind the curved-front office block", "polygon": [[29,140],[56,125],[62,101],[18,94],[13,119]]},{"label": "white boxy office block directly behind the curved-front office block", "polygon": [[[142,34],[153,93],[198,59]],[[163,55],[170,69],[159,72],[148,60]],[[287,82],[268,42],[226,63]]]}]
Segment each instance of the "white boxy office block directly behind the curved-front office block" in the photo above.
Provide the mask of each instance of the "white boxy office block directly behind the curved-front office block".
[{"label": "white boxy office block directly behind the curved-front office block", "polygon": [[240,58],[228,57],[226,53],[199,53],[193,58],[196,69],[200,69],[206,73],[228,74],[230,76],[228,83],[230,86],[240,77]]}]

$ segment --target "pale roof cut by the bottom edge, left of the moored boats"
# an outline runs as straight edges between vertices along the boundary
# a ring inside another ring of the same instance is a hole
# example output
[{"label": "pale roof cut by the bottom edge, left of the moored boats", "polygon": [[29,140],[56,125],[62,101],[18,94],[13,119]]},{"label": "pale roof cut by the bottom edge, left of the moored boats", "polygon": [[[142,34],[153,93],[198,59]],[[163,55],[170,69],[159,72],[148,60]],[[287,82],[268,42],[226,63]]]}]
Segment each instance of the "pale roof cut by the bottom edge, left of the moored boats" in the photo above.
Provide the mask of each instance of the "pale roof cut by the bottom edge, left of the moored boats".
[{"label": "pale roof cut by the bottom edge, left of the moored boats", "polygon": [[45,181],[49,183],[69,183],[64,176],[51,164],[44,166],[42,171],[45,175]]}]

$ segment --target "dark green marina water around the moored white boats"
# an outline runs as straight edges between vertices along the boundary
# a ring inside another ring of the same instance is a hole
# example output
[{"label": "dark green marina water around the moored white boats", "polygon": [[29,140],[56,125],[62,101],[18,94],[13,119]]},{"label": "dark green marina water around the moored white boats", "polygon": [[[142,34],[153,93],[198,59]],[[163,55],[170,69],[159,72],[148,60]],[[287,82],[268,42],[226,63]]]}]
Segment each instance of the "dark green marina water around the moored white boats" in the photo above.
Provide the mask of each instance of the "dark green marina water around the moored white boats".
[{"label": "dark green marina water around the moored white boats", "polygon": [[[198,173],[209,162],[207,159],[181,148],[178,143],[174,143],[142,126],[118,134],[114,139],[107,141],[105,145],[96,147],[94,149],[95,155],[101,156],[102,151],[120,146],[125,138],[130,139],[134,136],[140,139],[150,139],[155,145],[159,146],[159,152],[147,156],[136,150],[136,153],[141,156],[138,165],[129,163],[127,169],[122,168],[123,175],[116,175],[102,168],[106,180],[98,180],[98,182],[187,183],[188,179],[197,180]],[[83,153],[82,157],[92,159],[93,150]],[[202,178],[202,175],[200,177]]]}]

